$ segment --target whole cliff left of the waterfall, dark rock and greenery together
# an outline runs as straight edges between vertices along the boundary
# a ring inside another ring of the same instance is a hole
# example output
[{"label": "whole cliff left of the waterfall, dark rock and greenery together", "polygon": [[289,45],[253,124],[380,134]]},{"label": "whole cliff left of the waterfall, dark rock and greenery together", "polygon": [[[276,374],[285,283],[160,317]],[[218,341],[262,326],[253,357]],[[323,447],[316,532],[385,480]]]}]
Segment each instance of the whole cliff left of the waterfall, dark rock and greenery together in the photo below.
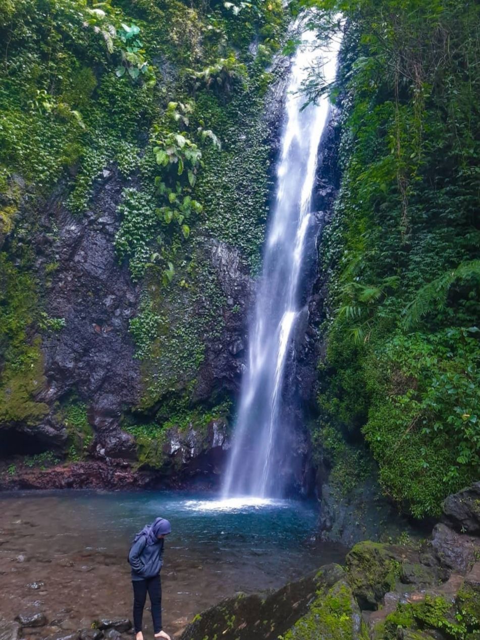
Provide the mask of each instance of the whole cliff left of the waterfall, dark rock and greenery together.
[{"label": "whole cliff left of the waterfall, dark rock and greenery together", "polygon": [[0,3],[4,457],[221,447],[288,22],[276,0]]}]

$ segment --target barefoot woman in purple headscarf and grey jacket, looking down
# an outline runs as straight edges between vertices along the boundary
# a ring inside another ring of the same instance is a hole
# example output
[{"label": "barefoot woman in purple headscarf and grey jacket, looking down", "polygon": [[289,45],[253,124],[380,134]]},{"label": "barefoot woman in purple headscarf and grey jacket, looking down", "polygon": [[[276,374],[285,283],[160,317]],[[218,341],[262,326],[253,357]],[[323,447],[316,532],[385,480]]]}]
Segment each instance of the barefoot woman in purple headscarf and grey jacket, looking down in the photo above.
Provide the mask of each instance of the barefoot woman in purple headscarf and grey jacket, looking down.
[{"label": "barefoot woman in purple headscarf and grey jacket, looking down", "polygon": [[170,640],[162,630],[162,588],[160,570],[163,564],[164,538],[172,531],[170,522],[156,518],[136,534],[129,552],[133,584],[133,623],[136,640],[143,640],[141,621],[147,591],[152,605],[152,620],[156,638]]}]

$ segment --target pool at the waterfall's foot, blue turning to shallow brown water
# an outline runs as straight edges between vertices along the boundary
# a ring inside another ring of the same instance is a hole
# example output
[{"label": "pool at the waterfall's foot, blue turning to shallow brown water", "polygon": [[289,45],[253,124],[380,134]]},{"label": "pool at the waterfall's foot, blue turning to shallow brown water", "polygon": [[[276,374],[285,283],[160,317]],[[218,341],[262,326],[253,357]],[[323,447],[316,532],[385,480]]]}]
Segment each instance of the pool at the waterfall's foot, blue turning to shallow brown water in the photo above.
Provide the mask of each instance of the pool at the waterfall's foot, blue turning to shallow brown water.
[{"label": "pool at the waterfall's foot, blue turning to shallow brown water", "polygon": [[[0,513],[0,612],[13,618],[33,607],[65,628],[131,617],[129,544],[158,515],[172,522],[162,570],[164,627],[172,632],[236,591],[278,588],[344,557],[314,540],[315,507],[289,500],[0,493]],[[33,589],[33,582],[44,586]]]}]

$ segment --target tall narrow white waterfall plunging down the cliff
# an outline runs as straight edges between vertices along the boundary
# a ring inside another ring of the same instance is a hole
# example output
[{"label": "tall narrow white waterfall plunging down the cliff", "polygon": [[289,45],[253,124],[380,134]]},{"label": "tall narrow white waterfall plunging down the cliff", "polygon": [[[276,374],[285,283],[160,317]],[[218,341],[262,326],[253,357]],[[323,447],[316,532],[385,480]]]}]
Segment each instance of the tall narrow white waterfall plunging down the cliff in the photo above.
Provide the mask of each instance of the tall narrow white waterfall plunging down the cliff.
[{"label": "tall narrow white waterfall plunging down the cliff", "polygon": [[287,442],[281,406],[285,362],[300,312],[298,293],[305,240],[312,228],[310,208],[318,147],[330,113],[326,96],[301,111],[299,91],[312,66],[321,66],[324,79],[333,81],[340,47],[340,38],[333,38],[328,47],[317,47],[312,31],[303,33],[301,40],[285,104],[276,205],[250,326],[249,365],[241,388],[224,498],[264,498],[282,492],[275,460]]}]

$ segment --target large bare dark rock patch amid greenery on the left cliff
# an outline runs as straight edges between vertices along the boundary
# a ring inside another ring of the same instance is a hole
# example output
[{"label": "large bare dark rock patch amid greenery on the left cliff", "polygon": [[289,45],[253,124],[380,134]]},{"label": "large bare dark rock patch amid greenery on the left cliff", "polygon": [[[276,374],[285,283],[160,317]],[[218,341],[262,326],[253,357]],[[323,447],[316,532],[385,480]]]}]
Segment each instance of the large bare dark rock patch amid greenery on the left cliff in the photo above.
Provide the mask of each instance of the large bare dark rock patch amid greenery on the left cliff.
[{"label": "large bare dark rock patch amid greenery on the left cliff", "polygon": [[[123,186],[115,170],[104,171],[92,209],[80,218],[52,202],[45,225],[56,220],[58,234],[52,238],[45,233],[35,241],[45,247],[38,269],[52,260],[57,265],[47,294],[49,315],[65,318],[65,328],[44,339],[47,387],[39,399],[52,404],[76,390],[88,401],[90,424],[100,449],[110,457],[132,454],[132,438],[120,432],[118,421],[122,405],[138,401],[141,383],[128,333],[138,289],[113,246]],[[56,428],[52,416],[47,423]]]}]

